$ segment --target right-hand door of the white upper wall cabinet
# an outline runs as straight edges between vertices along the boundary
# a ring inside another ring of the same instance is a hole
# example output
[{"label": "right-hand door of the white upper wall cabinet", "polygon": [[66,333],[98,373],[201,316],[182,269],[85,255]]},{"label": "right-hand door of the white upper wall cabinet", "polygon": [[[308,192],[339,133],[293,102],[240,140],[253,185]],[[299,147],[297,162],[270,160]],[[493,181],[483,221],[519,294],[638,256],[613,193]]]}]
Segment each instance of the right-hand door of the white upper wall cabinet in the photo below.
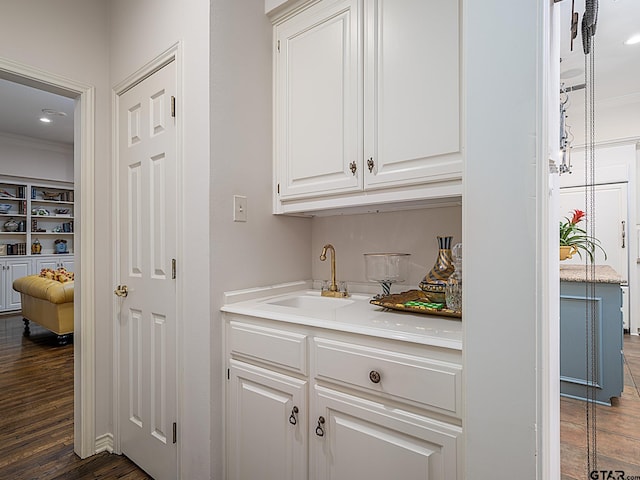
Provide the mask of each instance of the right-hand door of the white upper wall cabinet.
[{"label": "right-hand door of the white upper wall cabinet", "polygon": [[460,179],[458,0],[365,5],[365,189]]}]

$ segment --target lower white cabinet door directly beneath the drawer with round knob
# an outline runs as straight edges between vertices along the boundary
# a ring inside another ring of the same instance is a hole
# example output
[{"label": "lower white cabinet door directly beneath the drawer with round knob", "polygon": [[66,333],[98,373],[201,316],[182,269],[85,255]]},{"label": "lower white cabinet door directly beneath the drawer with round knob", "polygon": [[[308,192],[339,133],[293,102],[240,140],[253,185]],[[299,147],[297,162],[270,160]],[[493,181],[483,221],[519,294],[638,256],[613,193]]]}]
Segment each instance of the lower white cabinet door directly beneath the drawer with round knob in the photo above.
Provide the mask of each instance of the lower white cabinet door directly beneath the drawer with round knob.
[{"label": "lower white cabinet door directly beneath the drawer with round knob", "polygon": [[462,478],[460,427],[320,386],[313,400],[311,478]]}]

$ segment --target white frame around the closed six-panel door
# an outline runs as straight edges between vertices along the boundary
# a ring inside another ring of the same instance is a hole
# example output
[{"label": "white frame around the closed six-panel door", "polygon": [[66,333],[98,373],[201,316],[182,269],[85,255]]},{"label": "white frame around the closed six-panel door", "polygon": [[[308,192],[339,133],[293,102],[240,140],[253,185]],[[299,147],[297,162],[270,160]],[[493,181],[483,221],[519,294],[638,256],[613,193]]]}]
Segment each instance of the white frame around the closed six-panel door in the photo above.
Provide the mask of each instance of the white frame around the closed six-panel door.
[{"label": "white frame around the closed six-panel door", "polygon": [[[167,50],[162,52],[153,60],[149,61],[147,64],[142,66],[133,74],[129,75],[127,78],[116,84],[112,89],[112,177],[113,177],[113,192],[112,192],[112,246],[113,246],[113,265],[112,265],[112,283],[113,285],[117,285],[120,283],[120,262],[118,259],[120,258],[120,226],[118,223],[118,212],[120,211],[120,199],[118,195],[118,191],[120,188],[120,176],[119,176],[119,152],[118,152],[118,118],[119,118],[119,99],[122,94],[133,88],[138,83],[142,82],[147,77],[153,75],[162,67],[175,62],[176,64],[176,92],[179,97],[182,97],[182,46],[180,42],[175,43]],[[183,192],[185,191],[183,188],[183,177],[182,177],[182,167],[183,167],[183,134],[182,134],[182,116],[176,115],[176,135],[177,135],[177,143],[176,143],[176,198],[177,205],[176,211],[178,214],[178,218],[181,215],[183,210]],[[182,233],[183,229],[178,228],[176,233],[176,256],[178,260],[180,258],[184,258],[183,255],[183,246],[184,246],[184,234]],[[179,321],[179,312],[182,311],[182,298],[183,298],[183,279],[178,276],[176,279],[176,418],[178,425],[181,424],[181,419],[183,418],[183,403],[182,403],[182,365],[183,365],[183,350],[182,350],[182,322]],[[116,453],[122,453],[121,449],[121,429],[119,425],[120,418],[120,322],[118,321],[118,313],[119,313],[119,305],[118,298],[113,296],[113,449]],[[181,471],[181,451],[182,451],[182,442],[179,442],[177,448],[177,473],[178,478],[180,478]]]}]

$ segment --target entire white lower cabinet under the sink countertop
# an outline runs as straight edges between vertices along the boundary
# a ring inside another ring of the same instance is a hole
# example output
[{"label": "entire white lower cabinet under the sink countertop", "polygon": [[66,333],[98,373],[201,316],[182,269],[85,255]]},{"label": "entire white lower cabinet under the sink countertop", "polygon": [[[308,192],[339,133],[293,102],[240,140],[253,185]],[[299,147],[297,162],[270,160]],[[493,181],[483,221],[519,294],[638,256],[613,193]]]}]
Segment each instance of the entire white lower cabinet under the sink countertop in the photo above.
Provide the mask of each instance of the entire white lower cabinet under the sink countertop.
[{"label": "entire white lower cabinet under the sink countertop", "polygon": [[224,314],[229,480],[459,480],[462,356]]}]

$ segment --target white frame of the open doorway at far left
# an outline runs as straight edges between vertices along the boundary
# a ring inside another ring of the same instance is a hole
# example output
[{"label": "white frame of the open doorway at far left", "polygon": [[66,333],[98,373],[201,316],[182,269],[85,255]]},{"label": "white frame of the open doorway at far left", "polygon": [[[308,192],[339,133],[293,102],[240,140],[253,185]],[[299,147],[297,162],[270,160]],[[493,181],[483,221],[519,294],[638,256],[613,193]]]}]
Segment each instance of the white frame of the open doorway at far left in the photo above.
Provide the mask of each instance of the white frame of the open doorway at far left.
[{"label": "white frame of the open doorway at far left", "polygon": [[[96,453],[95,436],[95,87],[36,67],[0,58],[0,77],[75,100],[74,184],[79,199],[76,228],[74,299],[74,451]],[[84,188],[86,186],[87,188]],[[78,195],[79,193],[79,195]]]}]

